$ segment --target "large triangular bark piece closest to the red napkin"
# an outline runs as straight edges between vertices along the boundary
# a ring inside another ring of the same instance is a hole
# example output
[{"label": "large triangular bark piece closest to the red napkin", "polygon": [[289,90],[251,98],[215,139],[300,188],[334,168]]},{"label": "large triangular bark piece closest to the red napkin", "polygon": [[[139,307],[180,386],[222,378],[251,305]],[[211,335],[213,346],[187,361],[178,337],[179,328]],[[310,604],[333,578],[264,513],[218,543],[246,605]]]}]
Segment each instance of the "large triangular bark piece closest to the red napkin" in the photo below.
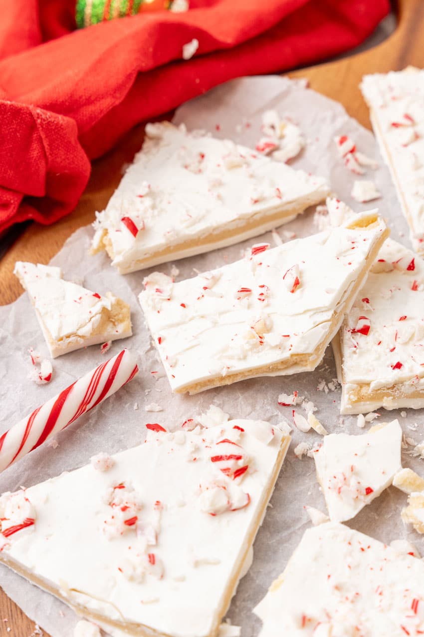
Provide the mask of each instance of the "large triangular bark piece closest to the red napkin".
[{"label": "large triangular bark piece closest to the red napkin", "polygon": [[97,213],[92,251],[106,250],[125,274],[249,239],[328,193],[324,179],[232,141],[147,124],[142,150]]}]

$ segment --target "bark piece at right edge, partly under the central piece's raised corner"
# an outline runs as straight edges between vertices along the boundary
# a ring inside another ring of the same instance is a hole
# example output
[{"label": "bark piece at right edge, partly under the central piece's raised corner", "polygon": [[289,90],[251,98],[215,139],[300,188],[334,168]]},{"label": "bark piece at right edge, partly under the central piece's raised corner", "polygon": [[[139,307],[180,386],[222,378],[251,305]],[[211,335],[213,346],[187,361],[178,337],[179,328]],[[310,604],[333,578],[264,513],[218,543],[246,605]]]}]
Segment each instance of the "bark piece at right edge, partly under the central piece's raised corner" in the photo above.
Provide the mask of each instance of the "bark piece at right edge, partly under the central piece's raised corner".
[{"label": "bark piece at right edge, partly under the central piece's raised corner", "polygon": [[424,406],[424,261],[387,240],[333,340],[341,413]]}]

